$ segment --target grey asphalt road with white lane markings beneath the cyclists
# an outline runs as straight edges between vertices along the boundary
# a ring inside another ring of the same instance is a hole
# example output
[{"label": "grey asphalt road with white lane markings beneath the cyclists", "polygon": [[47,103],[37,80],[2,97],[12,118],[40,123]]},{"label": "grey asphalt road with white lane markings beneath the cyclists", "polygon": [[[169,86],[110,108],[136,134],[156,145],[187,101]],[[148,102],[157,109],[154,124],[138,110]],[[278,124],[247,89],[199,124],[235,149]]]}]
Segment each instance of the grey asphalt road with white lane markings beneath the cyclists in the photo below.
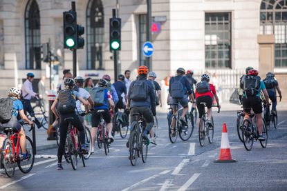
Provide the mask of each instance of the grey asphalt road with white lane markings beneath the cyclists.
[{"label": "grey asphalt road with white lane markings beneath the cyclists", "polygon": [[[166,114],[159,114],[158,145],[150,145],[147,163],[131,166],[127,140],[115,139],[109,156],[96,150],[86,168],[63,163],[57,171],[56,149],[39,152],[29,174],[17,170],[0,177],[3,190],[287,190],[287,112],[279,112],[279,128],[269,130],[267,148],[254,143],[248,152],[237,137],[235,111],[214,112],[214,143],[203,148],[196,130],[189,141],[172,144]],[[219,155],[223,122],[227,123],[232,157],[237,163],[214,163]],[[44,158],[41,158],[44,157]]]}]

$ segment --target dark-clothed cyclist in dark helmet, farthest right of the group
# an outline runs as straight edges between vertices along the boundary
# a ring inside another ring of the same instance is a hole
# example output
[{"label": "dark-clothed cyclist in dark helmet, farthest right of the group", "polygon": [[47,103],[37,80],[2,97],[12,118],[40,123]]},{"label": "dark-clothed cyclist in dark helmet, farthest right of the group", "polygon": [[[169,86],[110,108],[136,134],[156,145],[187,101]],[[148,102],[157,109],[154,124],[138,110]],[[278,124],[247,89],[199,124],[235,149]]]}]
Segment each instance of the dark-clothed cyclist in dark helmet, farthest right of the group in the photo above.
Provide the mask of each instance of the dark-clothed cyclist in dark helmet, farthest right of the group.
[{"label": "dark-clothed cyclist in dark helmet, farthest right of the group", "polygon": [[[268,92],[268,96],[272,101],[272,114],[275,114],[276,105],[277,105],[277,92],[279,93],[280,100],[282,99],[281,90],[279,88],[279,83],[275,79],[275,74],[273,72],[268,72],[266,74],[266,79],[263,79],[264,85]],[[276,92],[277,90],[277,92]],[[267,110],[267,116],[269,116],[269,110]],[[268,121],[269,122],[269,121]]]}]

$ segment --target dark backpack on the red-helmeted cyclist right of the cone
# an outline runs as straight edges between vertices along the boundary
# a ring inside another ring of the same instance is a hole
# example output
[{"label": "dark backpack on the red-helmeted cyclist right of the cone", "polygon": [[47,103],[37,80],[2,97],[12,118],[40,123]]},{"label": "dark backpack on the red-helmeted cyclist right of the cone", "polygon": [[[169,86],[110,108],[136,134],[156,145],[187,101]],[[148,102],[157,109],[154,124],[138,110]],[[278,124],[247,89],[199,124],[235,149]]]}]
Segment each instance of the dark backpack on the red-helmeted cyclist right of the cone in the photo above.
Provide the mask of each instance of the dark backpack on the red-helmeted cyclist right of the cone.
[{"label": "dark backpack on the red-helmeted cyclist right of the cone", "polygon": [[246,93],[246,97],[254,97],[259,93],[261,82],[259,76],[249,76],[245,77],[243,83],[243,92]]}]

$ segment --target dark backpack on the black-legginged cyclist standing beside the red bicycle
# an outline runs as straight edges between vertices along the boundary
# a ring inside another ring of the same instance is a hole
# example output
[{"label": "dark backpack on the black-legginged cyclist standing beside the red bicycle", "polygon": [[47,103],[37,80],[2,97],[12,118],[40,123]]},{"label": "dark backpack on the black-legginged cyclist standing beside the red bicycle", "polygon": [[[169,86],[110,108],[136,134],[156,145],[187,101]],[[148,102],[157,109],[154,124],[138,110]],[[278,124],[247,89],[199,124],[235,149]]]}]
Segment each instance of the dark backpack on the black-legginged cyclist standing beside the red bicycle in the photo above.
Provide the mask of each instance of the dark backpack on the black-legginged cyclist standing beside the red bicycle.
[{"label": "dark backpack on the black-legginged cyclist standing beside the red bicycle", "polygon": [[76,109],[75,96],[72,94],[72,90],[60,90],[58,94],[57,111],[60,114],[72,113]]}]

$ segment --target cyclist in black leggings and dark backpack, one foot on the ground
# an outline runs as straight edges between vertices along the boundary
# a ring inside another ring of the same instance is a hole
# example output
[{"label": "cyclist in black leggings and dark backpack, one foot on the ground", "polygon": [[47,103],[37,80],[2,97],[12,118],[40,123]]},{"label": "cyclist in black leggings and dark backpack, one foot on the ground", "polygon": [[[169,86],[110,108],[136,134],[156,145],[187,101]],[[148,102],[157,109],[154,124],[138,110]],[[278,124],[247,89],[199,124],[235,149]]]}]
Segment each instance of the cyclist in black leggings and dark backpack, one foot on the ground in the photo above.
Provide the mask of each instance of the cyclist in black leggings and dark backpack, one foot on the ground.
[{"label": "cyclist in black leggings and dark backpack, one foot on the ground", "polygon": [[[77,130],[79,130],[80,133],[80,141],[82,144],[82,152],[84,154],[88,153],[88,150],[86,149],[85,143],[85,133],[84,133],[84,127],[76,113],[76,100],[80,100],[84,105],[88,105],[88,101],[84,100],[82,97],[80,97],[80,94],[73,90],[73,86],[75,86],[75,81],[70,78],[64,79],[64,84],[66,88],[64,90],[60,90],[57,94],[57,97],[51,106],[51,110],[55,114],[56,120],[60,121],[60,139],[59,139],[59,148],[57,152],[58,157],[58,165],[57,170],[63,170],[62,167],[62,157],[64,154],[64,147],[66,143],[66,136],[68,131],[68,122],[65,121],[67,118],[73,118],[73,121],[71,123],[75,125]],[[56,110],[57,107],[57,110]],[[59,112],[59,114],[58,114]]]}]

